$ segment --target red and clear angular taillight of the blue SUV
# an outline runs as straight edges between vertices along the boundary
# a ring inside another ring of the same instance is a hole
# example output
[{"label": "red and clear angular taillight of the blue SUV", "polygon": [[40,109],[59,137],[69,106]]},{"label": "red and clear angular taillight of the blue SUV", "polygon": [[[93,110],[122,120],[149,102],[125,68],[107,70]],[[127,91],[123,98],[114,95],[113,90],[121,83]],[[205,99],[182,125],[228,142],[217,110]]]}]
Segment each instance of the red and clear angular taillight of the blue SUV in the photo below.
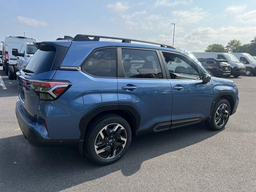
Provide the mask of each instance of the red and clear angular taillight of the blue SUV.
[{"label": "red and clear angular taillight of the blue SUV", "polygon": [[27,84],[38,93],[40,100],[56,100],[71,86],[71,83],[66,81],[27,80]]}]

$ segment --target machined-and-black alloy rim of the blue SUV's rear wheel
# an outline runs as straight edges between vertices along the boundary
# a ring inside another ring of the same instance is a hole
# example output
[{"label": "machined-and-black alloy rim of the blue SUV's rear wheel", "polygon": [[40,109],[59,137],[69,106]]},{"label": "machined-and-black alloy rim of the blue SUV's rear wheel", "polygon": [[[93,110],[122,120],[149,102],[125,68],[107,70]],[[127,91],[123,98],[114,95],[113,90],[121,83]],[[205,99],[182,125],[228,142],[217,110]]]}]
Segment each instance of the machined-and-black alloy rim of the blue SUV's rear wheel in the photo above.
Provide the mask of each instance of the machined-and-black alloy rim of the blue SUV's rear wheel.
[{"label": "machined-and-black alloy rim of the blue SUV's rear wheel", "polygon": [[108,124],[96,136],[94,149],[103,159],[112,159],[120,154],[126,145],[127,133],[118,123]]}]

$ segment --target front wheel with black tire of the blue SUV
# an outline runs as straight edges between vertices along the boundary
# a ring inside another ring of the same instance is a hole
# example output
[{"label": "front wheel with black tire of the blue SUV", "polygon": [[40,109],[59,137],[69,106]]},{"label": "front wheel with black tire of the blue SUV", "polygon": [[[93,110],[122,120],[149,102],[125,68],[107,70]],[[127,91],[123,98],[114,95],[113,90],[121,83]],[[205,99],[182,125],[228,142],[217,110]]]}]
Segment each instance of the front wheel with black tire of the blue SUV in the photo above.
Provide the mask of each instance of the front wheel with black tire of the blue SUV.
[{"label": "front wheel with black tire of the blue SUV", "polygon": [[[221,111],[222,106],[224,106],[224,109]],[[218,114],[217,114],[217,112],[218,112]],[[208,128],[210,128],[212,130],[221,130],[227,124],[229,116],[230,116],[230,104],[229,104],[228,100],[221,98],[221,99],[217,100],[217,102],[214,106],[214,109],[212,112],[212,118],[211,118],[210,122],[205,121],[205,124]],[[220,120],[220,122],[218,122],[219,120]],[[224,123],[223,123],[223,121],[224,121]]]}]

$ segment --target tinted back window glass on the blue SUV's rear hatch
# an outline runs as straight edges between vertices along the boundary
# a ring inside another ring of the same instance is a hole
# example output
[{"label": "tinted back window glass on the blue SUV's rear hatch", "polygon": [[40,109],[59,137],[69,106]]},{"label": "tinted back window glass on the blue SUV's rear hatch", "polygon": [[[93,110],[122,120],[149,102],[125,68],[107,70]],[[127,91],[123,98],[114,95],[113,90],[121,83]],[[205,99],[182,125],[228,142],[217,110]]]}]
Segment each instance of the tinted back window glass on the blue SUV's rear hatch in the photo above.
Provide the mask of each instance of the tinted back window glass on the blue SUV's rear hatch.
[{"label": "tinted back window glass on the blue SUV's rear hatch", "polygon": [[32,56],[25,69],[34,72],[33,75],[50,71],[55,56],[56,49],[54,47],[43,46]]}]

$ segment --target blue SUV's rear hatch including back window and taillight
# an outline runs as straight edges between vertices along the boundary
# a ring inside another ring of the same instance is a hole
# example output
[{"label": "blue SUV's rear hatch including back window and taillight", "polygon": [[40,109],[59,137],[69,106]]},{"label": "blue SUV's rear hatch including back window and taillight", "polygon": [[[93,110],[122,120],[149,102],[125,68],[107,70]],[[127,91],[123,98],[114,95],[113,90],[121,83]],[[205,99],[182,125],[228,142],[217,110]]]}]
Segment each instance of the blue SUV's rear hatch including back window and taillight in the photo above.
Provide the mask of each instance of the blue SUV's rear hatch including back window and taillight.
[{"label": "blue SUV's rear hatch including back window and taillight", "polygon": [[53,86],[61,88],[69,85],[65,82],[51,81],[68,47],[51,42],[36,43],[36,46],[38,50],[34,56],[20,72],[17,72],[19,98],[24,111],[33,121],[37,120],[40,100],[56,99],[57,94],[52,92],[55,90],[51,90]]}]

